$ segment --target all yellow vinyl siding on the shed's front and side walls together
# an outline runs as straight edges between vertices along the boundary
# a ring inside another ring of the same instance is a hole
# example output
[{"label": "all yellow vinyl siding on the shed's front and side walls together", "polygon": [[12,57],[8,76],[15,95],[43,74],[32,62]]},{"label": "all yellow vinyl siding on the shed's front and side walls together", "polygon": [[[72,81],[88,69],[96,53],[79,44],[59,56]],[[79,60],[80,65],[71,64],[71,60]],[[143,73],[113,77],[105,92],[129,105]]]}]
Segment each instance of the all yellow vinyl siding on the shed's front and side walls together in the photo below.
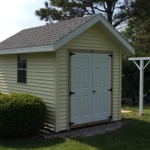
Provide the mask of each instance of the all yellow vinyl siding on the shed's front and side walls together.
[{"label": "all yellow vinyl siding on the shed's front and side walls together", "polygon": [[47,106],[46,121],[55,132],[68,129],[68,49],[111,51],[113,53],[112,115],[120,119],[121,55],[110,40],[93,26],[56,52],[27,54],[27,84],[17,84],[17,55],[0,56],[0,92],[22,92],[41,97]]}]

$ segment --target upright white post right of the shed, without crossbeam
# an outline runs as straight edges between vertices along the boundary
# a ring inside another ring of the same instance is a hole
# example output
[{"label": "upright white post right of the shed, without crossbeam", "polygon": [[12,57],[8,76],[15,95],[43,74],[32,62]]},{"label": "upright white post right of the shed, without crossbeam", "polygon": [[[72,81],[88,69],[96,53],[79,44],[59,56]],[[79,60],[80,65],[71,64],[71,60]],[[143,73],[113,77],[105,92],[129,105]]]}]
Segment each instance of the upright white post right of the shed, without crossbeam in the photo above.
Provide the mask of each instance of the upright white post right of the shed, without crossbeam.
[{"label": "upright white post right of the shed, without crossbeam", "polygon": [[144,60],[140,60],[140,93],[139,93],[140,115],[143,114],[143,82],[144,82]]}]

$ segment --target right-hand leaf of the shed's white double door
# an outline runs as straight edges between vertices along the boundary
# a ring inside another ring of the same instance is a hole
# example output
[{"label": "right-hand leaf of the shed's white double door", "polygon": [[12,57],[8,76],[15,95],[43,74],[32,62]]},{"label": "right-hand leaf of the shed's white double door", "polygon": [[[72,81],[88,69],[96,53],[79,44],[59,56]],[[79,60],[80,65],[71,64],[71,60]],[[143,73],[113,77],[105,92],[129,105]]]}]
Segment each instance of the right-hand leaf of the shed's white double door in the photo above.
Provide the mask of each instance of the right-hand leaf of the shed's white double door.
[{"label": "right-hand leaf of the shed's white double door", "polygon": [[93,121],[105,120],[111,115],[111,57],[93,54]]}]

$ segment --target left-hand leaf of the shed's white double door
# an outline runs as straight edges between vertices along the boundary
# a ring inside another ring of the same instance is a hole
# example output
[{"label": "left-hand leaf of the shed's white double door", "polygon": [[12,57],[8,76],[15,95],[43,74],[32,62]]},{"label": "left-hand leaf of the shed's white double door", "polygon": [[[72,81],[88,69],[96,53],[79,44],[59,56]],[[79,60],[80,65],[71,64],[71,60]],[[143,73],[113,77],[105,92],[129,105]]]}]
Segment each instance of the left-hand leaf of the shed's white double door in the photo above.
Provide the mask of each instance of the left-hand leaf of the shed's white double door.
[{"label": "left-hand leaf of the shed's white double door", "polygon": [[71,122],[92,121],[92,55],[75,53],[71,56]]}]

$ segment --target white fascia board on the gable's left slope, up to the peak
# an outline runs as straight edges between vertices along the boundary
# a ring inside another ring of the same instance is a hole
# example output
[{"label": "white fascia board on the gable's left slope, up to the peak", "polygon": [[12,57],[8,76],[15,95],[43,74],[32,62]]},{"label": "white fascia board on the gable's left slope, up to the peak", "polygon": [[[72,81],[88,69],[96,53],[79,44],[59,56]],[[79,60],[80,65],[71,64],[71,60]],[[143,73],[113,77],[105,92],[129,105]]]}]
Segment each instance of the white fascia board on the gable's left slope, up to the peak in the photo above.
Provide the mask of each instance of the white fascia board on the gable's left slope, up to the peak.
[{"label": "white fascia board on the gable's left slope, up to the peak", "polygon": [[92,18],[85,24],[81,25],[79,28],[75,29],[73,32],[69,33],[67,36],[65,36],[62,39],[60,39],[59,41],[57,41],[54,45],[54,50],[59,49],[61,46],[68,43],[73,38],[75,38],[76,36],[78,36],[79,34],[84,32],[85,30],[87,30],[88,28],[90,28],[91,26],[96,24],[98,21],[100,21],[100,18],[101,18],[100,15],[96,15],[94,18]]}]

